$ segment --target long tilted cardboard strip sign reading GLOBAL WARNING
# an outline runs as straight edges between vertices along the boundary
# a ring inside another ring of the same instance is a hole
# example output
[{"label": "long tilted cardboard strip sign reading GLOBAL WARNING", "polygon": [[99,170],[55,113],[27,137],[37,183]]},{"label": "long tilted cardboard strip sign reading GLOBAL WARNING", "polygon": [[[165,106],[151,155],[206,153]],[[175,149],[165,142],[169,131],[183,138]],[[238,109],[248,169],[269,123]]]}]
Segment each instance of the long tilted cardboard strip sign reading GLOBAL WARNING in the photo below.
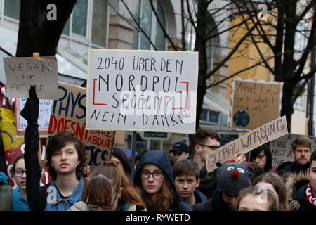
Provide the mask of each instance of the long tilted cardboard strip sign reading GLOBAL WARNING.
[{"label": "long tilted cardboard strip sign reading GLOBAL WARNING", "polygon": [[227,160],[233,160],[237,153],[244,155],[250,150],[277,139],[280,136],[284,136],[285,134],[287,134],[287,120],[285,116],[268,122],[206,155],[205,162],[207,172],[212,172],[217,168],[216,162],[223,163]]}]

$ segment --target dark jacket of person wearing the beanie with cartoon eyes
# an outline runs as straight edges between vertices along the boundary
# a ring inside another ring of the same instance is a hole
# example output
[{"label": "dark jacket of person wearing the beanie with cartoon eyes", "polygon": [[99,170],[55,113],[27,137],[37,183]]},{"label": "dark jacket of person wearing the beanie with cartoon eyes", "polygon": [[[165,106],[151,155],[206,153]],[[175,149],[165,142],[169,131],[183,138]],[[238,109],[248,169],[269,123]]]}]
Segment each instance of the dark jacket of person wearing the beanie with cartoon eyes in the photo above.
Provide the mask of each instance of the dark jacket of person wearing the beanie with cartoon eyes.
[{"label": "dark jacket of person wearing the beanie with cartoon eyes", "polygon": [[213,198],[206,200],[204,203],[197,203],[192,206],[193,211],[231,211],[223,200],[218,188],[213,193]]}]

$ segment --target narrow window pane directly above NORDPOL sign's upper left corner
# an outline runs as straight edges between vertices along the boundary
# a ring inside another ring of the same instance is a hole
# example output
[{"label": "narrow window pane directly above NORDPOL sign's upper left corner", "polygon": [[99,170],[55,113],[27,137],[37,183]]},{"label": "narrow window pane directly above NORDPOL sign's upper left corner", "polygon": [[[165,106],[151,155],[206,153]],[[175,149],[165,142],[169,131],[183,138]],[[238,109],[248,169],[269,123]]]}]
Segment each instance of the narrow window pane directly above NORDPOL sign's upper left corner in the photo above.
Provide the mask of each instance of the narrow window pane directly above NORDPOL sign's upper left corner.
[{"label": "narrow window pane directly above NORDPOL sign's upper left corner", "polygon": [[106,46],[107,37],[107,1],[93,1],[91,42]]}]

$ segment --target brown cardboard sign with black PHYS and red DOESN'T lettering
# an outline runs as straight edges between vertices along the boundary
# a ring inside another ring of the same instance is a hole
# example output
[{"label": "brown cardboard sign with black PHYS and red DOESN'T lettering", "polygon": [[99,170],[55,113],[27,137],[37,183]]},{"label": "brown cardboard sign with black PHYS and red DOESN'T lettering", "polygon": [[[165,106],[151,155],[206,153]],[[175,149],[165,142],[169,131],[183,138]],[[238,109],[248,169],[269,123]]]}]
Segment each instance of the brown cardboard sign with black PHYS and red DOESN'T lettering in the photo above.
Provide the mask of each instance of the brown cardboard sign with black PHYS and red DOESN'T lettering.
[{"label": "brown cardboard sign with black PHYS and red DOESN'T lettering", "polygon": [[103,165],[110,160],[115,132],[86,129],[86,88],[58,82],[58,96],[51,109],[48,139],[70,131],[86,145],[87,165]]}]

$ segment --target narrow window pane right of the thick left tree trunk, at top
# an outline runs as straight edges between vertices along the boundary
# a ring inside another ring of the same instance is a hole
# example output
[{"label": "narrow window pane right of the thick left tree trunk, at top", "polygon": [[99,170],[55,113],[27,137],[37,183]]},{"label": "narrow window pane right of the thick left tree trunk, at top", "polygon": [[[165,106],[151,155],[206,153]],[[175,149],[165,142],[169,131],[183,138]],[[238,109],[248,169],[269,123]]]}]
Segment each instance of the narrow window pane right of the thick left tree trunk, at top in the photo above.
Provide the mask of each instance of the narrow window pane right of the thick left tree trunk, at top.
[{"label": "narrow window pane right of the thick left tree trunk, at top", "polygon": [[86,37],[88,0],[78,0],[72,10],[72,33]]}]

